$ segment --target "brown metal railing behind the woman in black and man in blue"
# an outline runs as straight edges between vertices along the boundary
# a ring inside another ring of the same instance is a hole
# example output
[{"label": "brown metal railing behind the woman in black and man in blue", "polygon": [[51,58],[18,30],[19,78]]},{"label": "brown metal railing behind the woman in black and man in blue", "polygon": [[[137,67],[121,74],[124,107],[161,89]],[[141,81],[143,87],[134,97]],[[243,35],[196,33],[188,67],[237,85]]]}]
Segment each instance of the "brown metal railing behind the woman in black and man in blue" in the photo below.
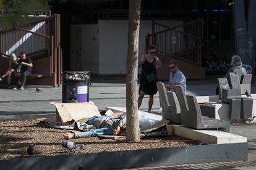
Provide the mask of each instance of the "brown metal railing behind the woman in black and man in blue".
[{"label": "brown metal railing behind the woman in black and man in blue", "polygon": [[159,54],[201,65],[203,20],[174,27],[153,21],[152,33],[146,36],[146,49],[150,44],[156,45]]}]

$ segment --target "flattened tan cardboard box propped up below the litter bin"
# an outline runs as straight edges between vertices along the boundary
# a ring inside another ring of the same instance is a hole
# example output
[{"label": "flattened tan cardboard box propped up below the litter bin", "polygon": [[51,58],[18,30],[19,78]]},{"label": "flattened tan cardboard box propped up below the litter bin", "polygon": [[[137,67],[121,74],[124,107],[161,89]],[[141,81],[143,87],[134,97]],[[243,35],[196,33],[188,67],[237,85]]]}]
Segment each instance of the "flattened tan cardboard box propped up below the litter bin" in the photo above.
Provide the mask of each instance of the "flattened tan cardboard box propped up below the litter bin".
[{"label": "flattened tan cardboard box propped up below the litter bin", "polygon": [[68,122],[100,116],[98,107],[90,102],[85,103],[50,103],[56,107],[56,121]]}]

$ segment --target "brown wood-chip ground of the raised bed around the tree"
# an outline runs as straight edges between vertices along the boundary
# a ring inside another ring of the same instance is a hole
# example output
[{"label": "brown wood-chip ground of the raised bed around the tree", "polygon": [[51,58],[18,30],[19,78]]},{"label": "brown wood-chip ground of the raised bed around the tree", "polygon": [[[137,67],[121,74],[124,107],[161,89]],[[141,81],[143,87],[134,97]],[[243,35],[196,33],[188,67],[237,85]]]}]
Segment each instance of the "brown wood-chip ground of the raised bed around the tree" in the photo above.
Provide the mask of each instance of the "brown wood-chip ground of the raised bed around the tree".
[{"label": "brown wood-chip ground of the raised bed around the tree", "polygon": [[[61,129],[52,129],[41,124],[38,119],[27,121],[6,121],[0,123],[0,160],[28,157],[27,148],[32,144],[34,156],[54,156],[70,154],[62,147]],[[138,150],[147,148],[185,147],[198,145],[198,141],[178,136],[147,137],[140,143],[128,143],[126,139],[99,139],[98,137],[71,139],[82,144],[82,149],[72,150],[71,154],[114,152],[119,150]]]}]

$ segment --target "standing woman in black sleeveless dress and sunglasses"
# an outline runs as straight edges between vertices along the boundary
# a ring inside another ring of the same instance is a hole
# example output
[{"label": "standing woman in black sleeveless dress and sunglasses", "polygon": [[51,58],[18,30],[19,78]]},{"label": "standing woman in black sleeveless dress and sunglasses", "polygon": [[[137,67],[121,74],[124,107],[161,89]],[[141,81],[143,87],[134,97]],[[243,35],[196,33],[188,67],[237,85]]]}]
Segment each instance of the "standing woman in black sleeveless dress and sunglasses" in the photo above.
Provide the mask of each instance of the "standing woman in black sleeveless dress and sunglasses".
[{"label": "standing woman in black sleeveless dress and sunglasses", "polygon": [[140,89],[138,108],[142,104],[142,99],[145,94],[150,95],[148,100],[148,112],[150,113],[153,105],[153,96],[157,92],[156,82],[158,81],[156,69],[161,67],[161,61],[156,57],[156,47],[151,45],[148,47],[148,54],[143,55],[139,59],[139,67],[142,67],[142,74],[140,76]]}]

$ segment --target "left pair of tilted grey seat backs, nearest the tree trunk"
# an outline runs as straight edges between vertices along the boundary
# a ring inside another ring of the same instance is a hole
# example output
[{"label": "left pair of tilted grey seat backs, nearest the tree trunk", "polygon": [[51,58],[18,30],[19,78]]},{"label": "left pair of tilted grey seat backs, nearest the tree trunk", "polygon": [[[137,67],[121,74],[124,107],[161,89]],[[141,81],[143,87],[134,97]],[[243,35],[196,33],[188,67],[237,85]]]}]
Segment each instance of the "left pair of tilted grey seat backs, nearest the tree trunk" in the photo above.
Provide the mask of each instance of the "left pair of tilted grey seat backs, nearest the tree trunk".
[{"label": "left pair of tilted grey seat backs, nearest the tree trunk", "polygon": [[169,119],[172,123],[181,123],[181,108],[175,92],[166,91],[163,83],[156,83],[159,93],[159,100],[163,108],[163,119]]}]

